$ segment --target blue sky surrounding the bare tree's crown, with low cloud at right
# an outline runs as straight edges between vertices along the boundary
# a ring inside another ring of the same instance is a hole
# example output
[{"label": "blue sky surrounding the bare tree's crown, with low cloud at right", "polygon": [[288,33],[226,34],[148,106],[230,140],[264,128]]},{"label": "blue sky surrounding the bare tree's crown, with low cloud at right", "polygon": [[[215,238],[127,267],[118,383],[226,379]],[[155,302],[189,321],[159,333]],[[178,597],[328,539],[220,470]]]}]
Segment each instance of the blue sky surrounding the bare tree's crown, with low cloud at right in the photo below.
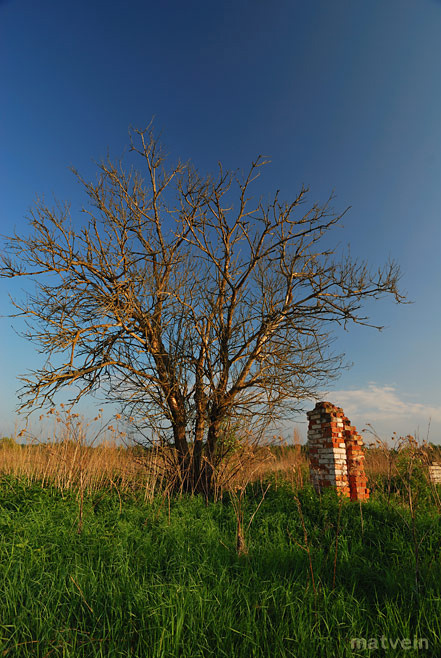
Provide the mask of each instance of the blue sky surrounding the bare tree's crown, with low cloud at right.
[{"label": "blue sky surrounding the bare tree's crown, with low cloud at right", "polygon": [[[68,167],[92,175],[152,116],[201,170],[268,156],[261,191],[335,190],[352,206],[336,239],[373,266],[398,260],[414,302],[370,306],[382,333],[338,336],[354,365],[326,397],[385,437],[425,437],[431,418],[441,443],[439,0],[0,0],[0,58],[1,233],[26,231],[37,195],[78,200]],[[0,281],[0,313],[24,286]],[[17,376],[43,357],[11,320],[0,339],[7,434]]]}]

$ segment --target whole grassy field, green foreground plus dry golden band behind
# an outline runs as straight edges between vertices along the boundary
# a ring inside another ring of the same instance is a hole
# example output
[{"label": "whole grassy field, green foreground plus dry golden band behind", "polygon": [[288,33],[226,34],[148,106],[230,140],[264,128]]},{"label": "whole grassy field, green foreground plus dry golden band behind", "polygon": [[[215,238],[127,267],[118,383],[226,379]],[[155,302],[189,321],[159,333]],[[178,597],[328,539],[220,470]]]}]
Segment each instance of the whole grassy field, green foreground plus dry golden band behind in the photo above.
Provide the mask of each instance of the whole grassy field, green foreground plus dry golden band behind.
[{"label": "whole grassy field, green foreground plus dry golden band behind", "polygon": [[433,448],[372,446],[358,505],[317,495],[300,447],[244,440],[208,503],[171,494],[172,451],[52,417],[44,442],[0,441],[0,655],[441,655]]}]

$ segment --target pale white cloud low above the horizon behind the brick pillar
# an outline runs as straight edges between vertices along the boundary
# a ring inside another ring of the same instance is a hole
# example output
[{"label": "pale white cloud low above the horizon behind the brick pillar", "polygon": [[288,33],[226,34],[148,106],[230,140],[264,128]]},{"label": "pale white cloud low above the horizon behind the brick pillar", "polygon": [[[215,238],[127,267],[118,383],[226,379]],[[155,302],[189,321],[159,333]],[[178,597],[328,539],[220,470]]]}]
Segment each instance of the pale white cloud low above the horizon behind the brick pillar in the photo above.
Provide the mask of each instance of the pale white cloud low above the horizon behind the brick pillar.
[{"label": "pale white cloud low above the horizon behind the brick pillar", "polygon": [[412,399],[404,399],[393,386],[381,386],[374,382],[367,388],[328,391],[323,399],[342,407],[350,421],[359,430],[369,423],[380,435],[413,434],[419,431],[426,437],[430,422],[429,440],[441,439],[441,404],[432,406]]}]

